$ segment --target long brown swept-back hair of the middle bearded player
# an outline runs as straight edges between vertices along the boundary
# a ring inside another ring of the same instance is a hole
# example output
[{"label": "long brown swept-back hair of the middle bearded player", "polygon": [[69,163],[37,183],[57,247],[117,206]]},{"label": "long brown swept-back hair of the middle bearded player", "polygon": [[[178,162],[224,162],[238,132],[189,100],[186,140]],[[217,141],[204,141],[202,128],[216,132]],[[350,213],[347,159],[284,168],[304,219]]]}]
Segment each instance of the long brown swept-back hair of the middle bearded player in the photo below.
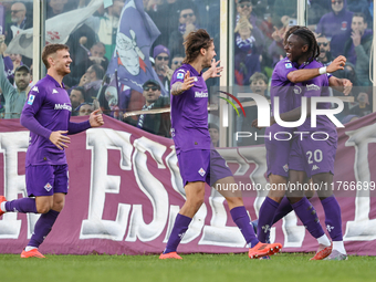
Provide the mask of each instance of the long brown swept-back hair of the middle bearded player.
[{"label": "long brown swept-back hair of the middle bearded player", "polygon": [[203,29],[189,32],[184,42],[186,58],[184,59],[182,63],[189,64],[194,62],[200,54],[201,49],[203,48],[208,50],[212,42],[213,39],[210,38],[209,33]]}]

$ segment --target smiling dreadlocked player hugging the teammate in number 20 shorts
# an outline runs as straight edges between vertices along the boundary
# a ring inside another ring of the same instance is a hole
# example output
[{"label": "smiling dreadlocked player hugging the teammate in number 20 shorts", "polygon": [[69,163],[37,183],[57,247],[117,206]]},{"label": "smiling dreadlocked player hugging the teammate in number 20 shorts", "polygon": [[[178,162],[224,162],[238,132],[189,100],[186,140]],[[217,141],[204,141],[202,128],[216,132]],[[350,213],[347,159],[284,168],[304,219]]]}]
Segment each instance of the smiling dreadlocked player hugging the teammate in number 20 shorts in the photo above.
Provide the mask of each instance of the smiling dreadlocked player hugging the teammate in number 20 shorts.
[{"label": "smiling dreadlocked player hugging the teammate in number 20 shorts", "polygon": [[[303,38],[302,42],[304,44],[300,42],[302,44],[299,45],[299,48],[296,45],[289,48],[291,45],[291,42],[288,39],[290,39],[290,35],[296,30],[304,30],[304,36],[301,35]],[[302,87],[302,82],[309,81],[320,75],[320,67],[322,65],[314,60],[316,53],[318,52],[317,50],[318,49],[314,34],[304,27],[292,27],[285,34],[285,51],[288,53],[288,58],[281,60],[276,64],[272,75],[271,86],[272,102],[274,96],[280,97],[280,113],[289,112],[295,107],[294,105],[296,105],[296,97],[300,98],[300,95],[296,95],[294,90],[300,88],[294,88],[294,86],[300,85],[300,87]],[[336,60],[333,61],[333,63],[327,67],[326,71],[328,73],[332,73],[336,70],[341,70],[343,69],[345,62],[346,60],[344,56],[338,56]],[[326,75],[322,76],[326,77]],[[338,80],[334,76],[331,76],[331,86],[336,86],[338,88],[342,87],[342,90],[344,87],[347,87],[346,91],[348,92],[348,86],[351,86],[351,82],[347,80]],[[274,105],[272,104],[272,107]],[[257,121],[254,121],[252,125],[257,125]],[[284,128],[278,124],[273,124],[267,129],[265,135],[271,134],[272,136],[274,136],[274,134],[279,132],[289,132],[290,134],[292,134],[294,129]],[[269,230],[272,224],[281,219],[283,216],[289,213],[292,209],[294,209],[295,213],[302,220],[303,224],[307,228],[310,233],[317,239],[317,242],[320,244],[318,250],[315,257],[312,258],[312,260],[324,259],[331,253],[332,246],[318,222],[318,218],[313,206],[307,201],[305,197],[303,197],[303,191],[295,191],[295,194],[293,195],[288,194],[288,198],[283,198],[285,191],[288,190],[286,184],[289,175],[290,182],[296,182],[296,177],[291,177],[291,174],[293,173],[289,170],[291,169],[291,167],[289,167],[291,142],[267,138],[265,147],[268,176],[270,182],[276,185],[275,187],[283,187],[283,189],[270,190],[267,199],[260,208],[258,222],[259,240],[261,242],[267,241]]]}]

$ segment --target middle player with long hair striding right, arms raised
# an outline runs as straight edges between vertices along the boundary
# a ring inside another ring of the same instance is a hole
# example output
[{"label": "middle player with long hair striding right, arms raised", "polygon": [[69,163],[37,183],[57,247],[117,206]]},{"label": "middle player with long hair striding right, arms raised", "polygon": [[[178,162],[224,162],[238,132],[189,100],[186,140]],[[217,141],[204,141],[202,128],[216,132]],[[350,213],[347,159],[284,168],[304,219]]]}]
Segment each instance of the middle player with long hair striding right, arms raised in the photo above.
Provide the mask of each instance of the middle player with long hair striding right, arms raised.
[{"label": "middle player with long hair striding right, arms raised", "polygon": [[[234,184],[224,159],[211,146],[208,129],[208,88],[202,69],[212,66],[213,40],[207,31],[192,31],[185,41],[186,58],[171,79],[171,133],[187,200],[175,219],[165,251],[159,259],[181,259],[176,250],[192,217],[203,202],[205,182]],[[216,75],[213,75],[216,77]],[[249,246],[249,258],[279,252],[281,243],[261,243],[244,208],[241,192],[218,190],[227,200],[232,220]]]}]

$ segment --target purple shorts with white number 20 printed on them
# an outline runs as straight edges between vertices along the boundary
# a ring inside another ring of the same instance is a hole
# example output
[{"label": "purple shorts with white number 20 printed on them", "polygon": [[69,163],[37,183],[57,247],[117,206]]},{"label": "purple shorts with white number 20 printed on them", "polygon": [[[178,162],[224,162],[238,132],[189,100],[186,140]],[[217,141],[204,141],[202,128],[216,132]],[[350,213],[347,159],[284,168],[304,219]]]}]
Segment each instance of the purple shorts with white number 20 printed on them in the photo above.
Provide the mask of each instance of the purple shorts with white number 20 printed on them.
[{"label": "purple shorts with white number 20 printed on them", "polygon": [[305,171],[311,178],[314,175],[331,173],[334,175],[334,159],[337,150],[337,139],[313,140],[311,137],[294,138],[291,146],[289,167]]}]

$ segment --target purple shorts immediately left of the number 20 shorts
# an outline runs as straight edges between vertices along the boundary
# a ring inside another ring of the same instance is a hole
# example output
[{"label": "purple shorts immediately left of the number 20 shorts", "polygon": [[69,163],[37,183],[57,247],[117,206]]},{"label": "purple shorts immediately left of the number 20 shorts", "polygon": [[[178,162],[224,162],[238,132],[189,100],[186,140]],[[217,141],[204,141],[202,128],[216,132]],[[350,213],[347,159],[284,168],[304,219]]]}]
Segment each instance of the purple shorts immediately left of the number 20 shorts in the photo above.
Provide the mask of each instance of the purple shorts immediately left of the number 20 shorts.
[{"label": "purple shorts immediately left of the number 20 shorts", "polygon": [[[280,140],[289,139],[289,135],[283,133],[291,133],[291,128],[282,127],[278,124],[265,129],[265,135],[271,135],[271,140],[265,137],[265,148],[267,148],[267,176],[270,174],[280,175],[283,177],[289,177],[289,156],[291,140]],[[276,138],[274,138],[276,137]]]}]

